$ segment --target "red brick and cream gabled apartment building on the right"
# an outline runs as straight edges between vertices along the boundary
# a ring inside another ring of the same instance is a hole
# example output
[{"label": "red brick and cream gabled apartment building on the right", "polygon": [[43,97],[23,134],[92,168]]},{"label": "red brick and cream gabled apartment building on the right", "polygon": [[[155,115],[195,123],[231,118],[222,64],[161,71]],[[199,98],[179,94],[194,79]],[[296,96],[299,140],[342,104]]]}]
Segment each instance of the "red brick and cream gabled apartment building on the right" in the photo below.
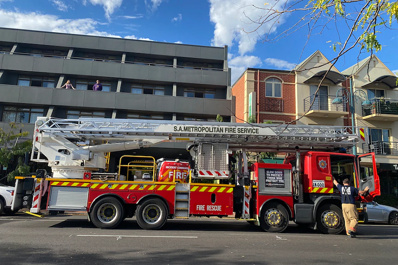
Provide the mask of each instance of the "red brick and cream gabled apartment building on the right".
[{"label": "red brick and cream gabled apartment building on the right", "polygon": [[[397,77],[376,56],[341,72],[328,62],[316,51],[292,71],[246,69],[232,85],[236,121],[248,122],[249,117],[256,117],[255,121],[260,123],[293,121],[298,125],[345,127],[352,125],[353,105],[354,125],[369,128],[369,139],[361,140],[357,153],[377,154],[382,193],[397,195]],[[349,97],[351,89],[353,104]],[[340,104],[335,104],[336,98]],[[362,105],[366,100],[371,101],[371,106]],[[370,163],[370,159],[364,158],[363,162]]]}]

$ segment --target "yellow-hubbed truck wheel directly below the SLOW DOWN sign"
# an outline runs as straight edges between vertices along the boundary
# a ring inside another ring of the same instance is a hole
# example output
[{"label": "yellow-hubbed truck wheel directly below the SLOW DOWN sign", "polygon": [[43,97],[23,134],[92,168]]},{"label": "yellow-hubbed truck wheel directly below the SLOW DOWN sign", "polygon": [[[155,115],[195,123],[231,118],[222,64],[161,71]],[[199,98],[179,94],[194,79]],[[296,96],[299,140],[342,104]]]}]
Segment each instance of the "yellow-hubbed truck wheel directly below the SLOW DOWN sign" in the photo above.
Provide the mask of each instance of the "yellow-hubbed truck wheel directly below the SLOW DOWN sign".
[{"label": "yellow-hubbed truck wheel directly below the SLOW DOWN sign", "polygon": [[283,232],[289,225],[289,213],[285,206],[278,202],[271,202],[261,210],[260,225],[272,233]]}]

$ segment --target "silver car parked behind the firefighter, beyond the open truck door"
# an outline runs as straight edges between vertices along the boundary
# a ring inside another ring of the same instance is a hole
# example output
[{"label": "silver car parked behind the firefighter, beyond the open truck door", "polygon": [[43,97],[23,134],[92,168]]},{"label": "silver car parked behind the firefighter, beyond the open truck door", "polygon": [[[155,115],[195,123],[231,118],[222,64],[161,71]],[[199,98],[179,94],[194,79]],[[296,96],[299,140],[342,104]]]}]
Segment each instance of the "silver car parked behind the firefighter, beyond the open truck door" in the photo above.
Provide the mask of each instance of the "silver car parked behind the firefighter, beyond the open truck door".
[{"label": "silver car parked behind the firefighter, beyond the open truck door", "polygon": [[368,222],[389,223],[398,225],[398,209],[382,205],[376,201],[366,202],[368,209]]}]

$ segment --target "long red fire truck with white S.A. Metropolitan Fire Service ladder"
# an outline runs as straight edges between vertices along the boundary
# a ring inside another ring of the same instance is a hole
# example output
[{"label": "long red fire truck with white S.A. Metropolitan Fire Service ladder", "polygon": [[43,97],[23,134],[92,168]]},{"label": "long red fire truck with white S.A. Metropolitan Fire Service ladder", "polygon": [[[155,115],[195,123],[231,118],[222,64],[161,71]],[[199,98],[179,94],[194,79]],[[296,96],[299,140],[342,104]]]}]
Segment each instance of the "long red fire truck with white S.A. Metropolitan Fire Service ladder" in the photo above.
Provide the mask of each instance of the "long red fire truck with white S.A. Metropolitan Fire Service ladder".
[{"label": "long red fire truck with white S.A. Metropolitan Fire Service ladder", "polygon": [[[235,214],[268,232],[282,232],[293,220],[337,234],[344,221],[333,178],[348,178],[359,189],[370,187],[358,201],[364,218],[361,201],[380,195],[373,153],[356,157],[334,151],[360,141],[354,132],[359,129],[39,117],[31,160],[47,163],[52,173],[17,177],[12,209],[85,210],[99,228],[114,228],[134,215],[142,228],[160,229],[167,219]],[[119,172],[104,172],[106,152],[160,142],[186,142],[192,160],[127,155],[120,158]],[[248,153],[265,151],[292,155],[284,164],[248,165]],[[138,170],[149,172],[152,180],[132,177]],[[200,183],[202,179],[225,184]]]}]

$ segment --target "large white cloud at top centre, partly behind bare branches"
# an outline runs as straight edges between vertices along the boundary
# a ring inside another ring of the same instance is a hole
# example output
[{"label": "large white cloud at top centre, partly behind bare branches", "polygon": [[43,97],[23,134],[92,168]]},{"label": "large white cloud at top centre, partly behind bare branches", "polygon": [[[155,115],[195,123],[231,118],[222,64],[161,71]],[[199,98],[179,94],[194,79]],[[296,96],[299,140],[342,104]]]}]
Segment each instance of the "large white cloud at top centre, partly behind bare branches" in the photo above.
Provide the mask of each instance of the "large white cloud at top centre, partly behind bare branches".
[{"label": "large white cloud at top centre, partly behind bare branches", "polygon": [[[264,0],[209,0],[210,1],[210,21],[214,23],[214,38],[211,40],[213,46],[233,46],[238,43],[239,54],[244,55],[253,52],[257,41],[260,40],[257,32],[247,34],[246,32],[255,30],[258,27],[256,23],[250,23],[251,19],[259,19],[261,15],[266,14],[263,7]],[[278,1],[274,5],[275,9],[283,9],[283,6],[289,0]],[[243,13],[245,12],[245,14]],[[258,31],[264,34],[271,29],[275,32],[277,25],[280,26],[284,19],[279,19],[279,23],[273,25],[273,21],[263,24]]]}]

